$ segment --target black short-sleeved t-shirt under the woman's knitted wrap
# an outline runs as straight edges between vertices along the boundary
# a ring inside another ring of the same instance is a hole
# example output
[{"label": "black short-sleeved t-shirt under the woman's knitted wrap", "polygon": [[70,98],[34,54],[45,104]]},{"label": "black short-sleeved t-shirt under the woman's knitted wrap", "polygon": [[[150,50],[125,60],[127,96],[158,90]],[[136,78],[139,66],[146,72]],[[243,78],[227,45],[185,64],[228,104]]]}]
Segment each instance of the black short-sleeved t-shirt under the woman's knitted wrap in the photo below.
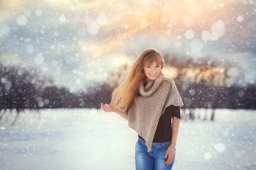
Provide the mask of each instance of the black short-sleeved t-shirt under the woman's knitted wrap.
[{"label": "black short-sleeved t-shirt under the woman's knitted wrap", "polygon": [[[163,115],[160,116],[157,130],[154,134],[153,142],[164,143],[172,141],[172,117],[177,117],[180,119],[180,107],[170,105],[166,107]],[[139,138],[143,139],[140,135]]]}]

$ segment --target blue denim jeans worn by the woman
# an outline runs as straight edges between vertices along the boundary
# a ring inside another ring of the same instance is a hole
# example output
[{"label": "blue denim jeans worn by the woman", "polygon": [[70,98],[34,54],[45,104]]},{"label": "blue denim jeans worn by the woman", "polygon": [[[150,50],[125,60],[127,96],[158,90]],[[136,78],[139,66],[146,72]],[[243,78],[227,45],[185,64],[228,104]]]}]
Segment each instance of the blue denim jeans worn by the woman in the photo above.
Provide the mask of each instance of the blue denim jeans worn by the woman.
[{"label": "blue denim jeans worn by the woman", "polygon": [[[135,167],[136,170],[172,170],[172,166],[175,161],[166,166],[164,156],[166,150],[171,144],[171,141],[165,143],[152,143],[151,151],[148,152],[146,141],[138,137],[138,141],[135,145]],[[176,148],[175,148],[176,153]]]}]

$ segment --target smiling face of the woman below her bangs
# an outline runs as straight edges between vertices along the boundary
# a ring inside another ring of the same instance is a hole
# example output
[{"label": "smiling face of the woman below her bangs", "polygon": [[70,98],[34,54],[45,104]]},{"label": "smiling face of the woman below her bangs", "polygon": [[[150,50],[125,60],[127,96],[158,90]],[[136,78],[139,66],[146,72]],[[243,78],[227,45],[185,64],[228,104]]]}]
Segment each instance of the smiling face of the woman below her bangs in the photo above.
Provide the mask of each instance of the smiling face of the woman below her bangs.
[{"label": "smiling face of the woman below her bangs", "polygon": [[151,65],[147,65],[144,67],[145,75],[147,76],[148,82],[150,80],[155,80],[161,72],[161,65],[157,65],[154,61]]}]

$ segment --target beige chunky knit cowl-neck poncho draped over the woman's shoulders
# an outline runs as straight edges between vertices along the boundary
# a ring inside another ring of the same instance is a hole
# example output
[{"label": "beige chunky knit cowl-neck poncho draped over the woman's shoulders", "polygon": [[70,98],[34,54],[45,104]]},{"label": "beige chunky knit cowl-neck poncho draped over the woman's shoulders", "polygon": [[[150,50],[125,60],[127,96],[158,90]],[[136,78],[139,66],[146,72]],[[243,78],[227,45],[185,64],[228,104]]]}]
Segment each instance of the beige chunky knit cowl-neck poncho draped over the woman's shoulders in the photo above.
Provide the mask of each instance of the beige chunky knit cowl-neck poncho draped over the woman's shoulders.
[{"label": "beige chunky knit cowl-neck poncho draped over the woman's shoulders", "polygon": [[164,77],[162,72],[145,87],[141,82],[135,100],[137,106],[132,104],[128,110],[128,126],[145,139],[149,152],[159,118],[166,107],[172,104],[182,107],[183,102],[173,79]]}]

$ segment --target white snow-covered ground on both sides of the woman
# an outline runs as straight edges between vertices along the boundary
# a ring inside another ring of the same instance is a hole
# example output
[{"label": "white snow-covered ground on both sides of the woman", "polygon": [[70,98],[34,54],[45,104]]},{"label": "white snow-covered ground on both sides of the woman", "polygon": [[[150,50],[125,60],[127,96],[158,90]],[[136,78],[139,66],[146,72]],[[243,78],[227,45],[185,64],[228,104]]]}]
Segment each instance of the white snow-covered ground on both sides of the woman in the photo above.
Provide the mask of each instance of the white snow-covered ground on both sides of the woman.
[{"label": "white snow-covered ground on both sides of the woman", "polygon": [[[0,122],[0,170],[135,170],[137,133],[116,113],[26,110]],[[204,115],[204,109],[198,110]],[[256,111],[217,109],[214,122],[180,121],[173,170],[255,170]]]}]

